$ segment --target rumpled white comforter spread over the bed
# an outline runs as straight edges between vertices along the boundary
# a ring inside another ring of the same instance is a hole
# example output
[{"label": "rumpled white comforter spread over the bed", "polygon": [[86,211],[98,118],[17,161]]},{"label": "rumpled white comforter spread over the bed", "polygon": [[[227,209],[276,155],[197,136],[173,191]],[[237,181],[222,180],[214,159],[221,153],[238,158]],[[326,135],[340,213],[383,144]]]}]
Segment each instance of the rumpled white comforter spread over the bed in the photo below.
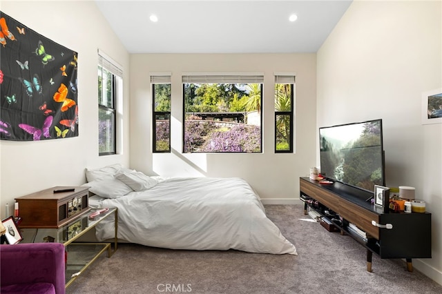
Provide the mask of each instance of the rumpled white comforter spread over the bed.
[{"label": "rumpled white comforter spread over the bed", "polygon": [[[171,249],[289,253],[296,248],[265,215],[264,206],[240,178],[173,178],[142,192],[104,199],[118,208],[118,237]],[[100,241],[114,237],[113,224],[97,226]]]}]

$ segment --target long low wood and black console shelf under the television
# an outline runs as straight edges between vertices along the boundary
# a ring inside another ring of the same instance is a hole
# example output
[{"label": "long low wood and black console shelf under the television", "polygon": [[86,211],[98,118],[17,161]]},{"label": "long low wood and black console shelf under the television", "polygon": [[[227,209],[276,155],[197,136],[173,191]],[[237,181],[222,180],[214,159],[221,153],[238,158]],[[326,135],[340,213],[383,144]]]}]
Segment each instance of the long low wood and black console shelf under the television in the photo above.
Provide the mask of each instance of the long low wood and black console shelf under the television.
[{"label": "long low wood and black console shelf under the television", "polygon": [[[307,199],[318,202],[310,208],[338,227],[341,234],[350,235],[367,249],[367,271],[372,271],[372,253],[381,258],[405,258],[408,271],[412,271],[412,258],[430,258],[431,213],[383,213],[367,201],[371,197],[372,193],[340,182],[319,184],[309,177],[300,177],[304,213],[307,214],[310,205]],[[328,217],[325,210],[334,211],[342,221]],[[349,223],[365,232],[367,239],[353,233]],[[391,228],[379,227],[387,224]]]}]

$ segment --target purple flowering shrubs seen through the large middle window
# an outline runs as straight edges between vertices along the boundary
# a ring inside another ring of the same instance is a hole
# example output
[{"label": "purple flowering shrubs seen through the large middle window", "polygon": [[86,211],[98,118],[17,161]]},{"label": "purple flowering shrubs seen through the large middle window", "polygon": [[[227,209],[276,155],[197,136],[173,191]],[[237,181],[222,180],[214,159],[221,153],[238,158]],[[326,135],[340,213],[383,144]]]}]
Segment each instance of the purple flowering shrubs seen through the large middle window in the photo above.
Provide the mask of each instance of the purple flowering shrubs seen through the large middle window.
[{"label": "purple flowering shrubs seen through the large middle window", "polygon": [[233,124],[219,128],[213,121],[186,121],[184,153],[261,151],[261,129],[258,126]]}]

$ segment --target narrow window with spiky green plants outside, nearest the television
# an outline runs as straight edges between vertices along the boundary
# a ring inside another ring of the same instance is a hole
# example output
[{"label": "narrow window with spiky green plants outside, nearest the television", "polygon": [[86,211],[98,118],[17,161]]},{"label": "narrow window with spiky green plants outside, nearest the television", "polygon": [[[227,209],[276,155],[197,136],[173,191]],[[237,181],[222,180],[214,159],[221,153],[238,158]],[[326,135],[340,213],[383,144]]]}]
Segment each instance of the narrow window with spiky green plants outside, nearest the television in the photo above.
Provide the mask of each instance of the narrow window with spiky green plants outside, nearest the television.
[{"label": "narrow window with spiky green plants outside, nearest the television", "polygon": [[275,153],[293,152],[294,76],[275,76]]}]

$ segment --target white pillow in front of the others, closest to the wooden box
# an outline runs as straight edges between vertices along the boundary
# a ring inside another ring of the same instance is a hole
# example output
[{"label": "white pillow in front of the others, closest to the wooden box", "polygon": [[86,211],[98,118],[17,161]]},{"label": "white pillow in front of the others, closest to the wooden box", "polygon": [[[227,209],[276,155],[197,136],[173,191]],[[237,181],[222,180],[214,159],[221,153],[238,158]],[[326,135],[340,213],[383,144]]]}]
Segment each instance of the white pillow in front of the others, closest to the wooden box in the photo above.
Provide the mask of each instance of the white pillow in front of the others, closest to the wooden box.
[{"label": "white pillow in front of the others, closest to the wooden box", "polygon": [[88,186],[90,192],[104,198],[118,198],[133,191],[131,187],[114,177],[111,177],[110,179],[96,179],[83,186]]}]

